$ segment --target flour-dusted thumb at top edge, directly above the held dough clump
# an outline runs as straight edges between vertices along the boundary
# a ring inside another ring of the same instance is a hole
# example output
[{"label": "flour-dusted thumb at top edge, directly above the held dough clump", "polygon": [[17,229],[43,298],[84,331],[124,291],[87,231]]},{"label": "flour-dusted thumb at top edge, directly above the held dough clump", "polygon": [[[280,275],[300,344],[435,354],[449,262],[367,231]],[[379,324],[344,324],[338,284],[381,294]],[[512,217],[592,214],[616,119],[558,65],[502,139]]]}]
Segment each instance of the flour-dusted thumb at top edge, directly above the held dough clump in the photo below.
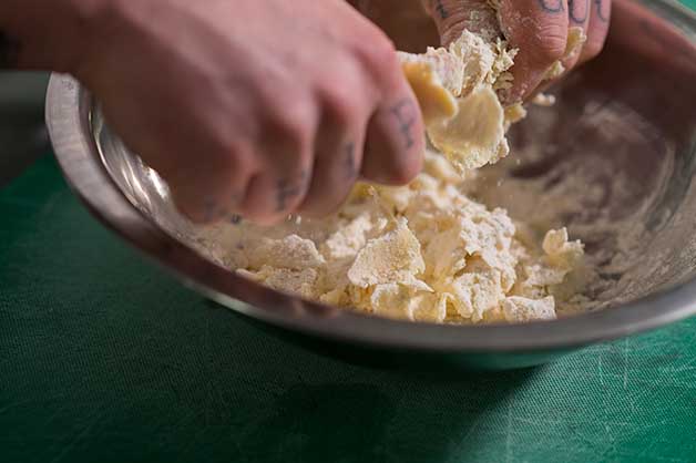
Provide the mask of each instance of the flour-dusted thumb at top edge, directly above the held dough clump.
[{"label": "flour-dusted thumb at top edge, directly above the held dough clump", "polygon": [[495,10],[487,0],[422,0],[432,17],[440,41],[447,47],[461,37],[464,29],[494,40],[500,35]]}]

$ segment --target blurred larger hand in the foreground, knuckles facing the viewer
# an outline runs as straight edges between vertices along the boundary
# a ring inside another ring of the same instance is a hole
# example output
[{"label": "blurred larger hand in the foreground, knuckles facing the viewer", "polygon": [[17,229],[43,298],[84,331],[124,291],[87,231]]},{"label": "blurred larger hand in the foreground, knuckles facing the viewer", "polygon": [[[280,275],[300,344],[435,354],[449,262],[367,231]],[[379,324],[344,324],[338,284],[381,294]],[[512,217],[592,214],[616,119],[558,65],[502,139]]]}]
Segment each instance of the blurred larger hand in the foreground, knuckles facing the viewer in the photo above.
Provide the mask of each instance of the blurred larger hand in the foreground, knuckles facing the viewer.
[{"label": "blurred larger hand in the foreground, knuckles facing the viewer", "polygon": [[393,45],[344,0],[102,1],[70,71],[193,220],[323,215],[358,177],[420,171]]}]

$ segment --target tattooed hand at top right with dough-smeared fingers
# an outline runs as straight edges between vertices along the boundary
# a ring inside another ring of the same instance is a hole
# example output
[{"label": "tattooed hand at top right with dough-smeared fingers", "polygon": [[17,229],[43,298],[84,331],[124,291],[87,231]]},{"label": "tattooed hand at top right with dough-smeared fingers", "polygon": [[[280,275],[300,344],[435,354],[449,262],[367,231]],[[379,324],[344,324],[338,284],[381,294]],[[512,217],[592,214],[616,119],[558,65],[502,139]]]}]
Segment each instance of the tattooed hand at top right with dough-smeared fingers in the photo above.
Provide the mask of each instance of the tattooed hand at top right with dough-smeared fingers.
[{"label": "tattooed hand at top right with dough-smeared fingers", "polygon": [[[498,0],[500,21],[489,0],[422,0],[444,44],[469,29],[494,37],[502,33],[520,50],[512,68],[508,102],[526,100],[539,91],[549,68],[562,59],[569,29],[580,27],[587,41],[582,51],[563,61],[571,70],[596,56],[608,32],[612,0]],[[502,23],[502,24],[501,24]]]}]

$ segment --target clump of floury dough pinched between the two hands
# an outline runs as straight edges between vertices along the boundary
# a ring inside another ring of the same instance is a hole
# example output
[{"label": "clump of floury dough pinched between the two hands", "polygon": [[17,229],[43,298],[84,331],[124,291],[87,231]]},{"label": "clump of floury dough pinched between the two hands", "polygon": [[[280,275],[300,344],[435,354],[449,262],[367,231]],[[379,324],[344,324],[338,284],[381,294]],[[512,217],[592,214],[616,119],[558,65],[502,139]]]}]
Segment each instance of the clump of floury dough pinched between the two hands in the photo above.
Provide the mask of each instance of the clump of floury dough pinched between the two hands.
[{"label": "clump of floury dough pinched between the two hands", "polygon": [[516,50],[464,31],[449,48],[400,53],[420,102],[432,145],[460,171],[493,164],[510,153],[508,120],[497,90],[508,89]]}]

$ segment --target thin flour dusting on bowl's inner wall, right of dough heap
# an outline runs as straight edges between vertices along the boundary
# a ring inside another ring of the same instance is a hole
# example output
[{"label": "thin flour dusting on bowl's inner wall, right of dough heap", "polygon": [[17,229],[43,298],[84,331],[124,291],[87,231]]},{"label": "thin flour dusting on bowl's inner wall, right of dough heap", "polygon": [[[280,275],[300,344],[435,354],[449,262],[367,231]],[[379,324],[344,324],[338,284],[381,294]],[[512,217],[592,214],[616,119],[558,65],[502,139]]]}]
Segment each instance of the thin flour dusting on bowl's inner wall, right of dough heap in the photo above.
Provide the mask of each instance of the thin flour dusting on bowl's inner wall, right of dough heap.
[{"label": "thin flour dusting on bowl's inner wall, right of dough heap", "polygon": [[[553,107],[531,112],[519,127],[515,158],[479,171],[467,184],[470,197],[504,207],[520,229],[539,239],[549,228],[567,226],[585,244],[582,269],[573,272],[576,294],[556,307],[559,316],[634,300],[654,291],[665,256],[653,251],[668,210],[656,212],[674,169],[671,147],[639,115],[621,103],[588,101],[573,124]],[[593,137],[592,143],[573,140]],[[560,140],[573,152],[556,157]],[[651,175],[631,174],[636,152],[664,153]],[[593,148],[594,147],[594,148]],[[596,151],[595,151],[596,150]],[[647,227],[646,224],[652,224]],[[582,288],[582,289],[579,289]],[[559,288],[556,288],[559,289]],[[567,295],[566,295],[567,296]]]}]

